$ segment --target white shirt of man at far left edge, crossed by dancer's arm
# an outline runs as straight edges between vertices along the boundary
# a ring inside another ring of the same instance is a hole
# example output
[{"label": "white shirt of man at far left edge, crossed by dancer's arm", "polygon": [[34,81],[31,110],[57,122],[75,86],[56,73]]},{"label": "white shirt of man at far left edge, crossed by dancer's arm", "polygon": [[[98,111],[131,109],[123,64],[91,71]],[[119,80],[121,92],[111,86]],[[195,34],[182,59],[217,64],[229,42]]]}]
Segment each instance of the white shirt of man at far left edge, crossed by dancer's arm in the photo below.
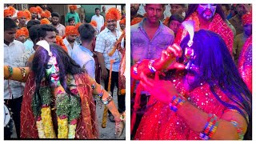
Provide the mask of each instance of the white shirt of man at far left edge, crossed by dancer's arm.
[{"label": "white shirt of man at far left edge, crossed by dancer's arm", "polygon": [[[4,65],[19,67],[24,66],[24,63],[21,61],[22,54],[25,53],[25,46],[22,42],[14,40],[14,42],[10,42],[10,45],[7,46],[4,43]],[[5,99],[13,99],[19,98],[23,95],[24,92],[24,83],[11,81],[9,82],[10,90],[8,88],[8,80],[4,82],[4,98]]]}]

